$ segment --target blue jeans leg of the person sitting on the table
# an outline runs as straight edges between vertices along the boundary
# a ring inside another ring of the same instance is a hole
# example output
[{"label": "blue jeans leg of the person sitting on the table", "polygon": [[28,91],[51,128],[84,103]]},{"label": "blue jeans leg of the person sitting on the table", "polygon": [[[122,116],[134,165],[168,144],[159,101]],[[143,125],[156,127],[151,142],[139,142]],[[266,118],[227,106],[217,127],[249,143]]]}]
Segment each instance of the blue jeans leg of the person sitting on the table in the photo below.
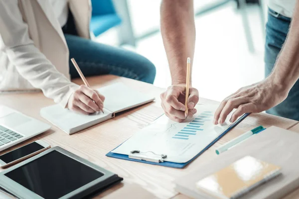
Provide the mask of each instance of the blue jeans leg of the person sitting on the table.
[{"label": "blue jeans leg of the person sitting on the table", "polygon": [[[70,59],[75,58],[84,76],[110,74],[153,83],[156,71],[147,58],[129,50],[79,37],[71,11],[62,30]],[[80,77],[71,61],[69,65],[71,78]]]}]

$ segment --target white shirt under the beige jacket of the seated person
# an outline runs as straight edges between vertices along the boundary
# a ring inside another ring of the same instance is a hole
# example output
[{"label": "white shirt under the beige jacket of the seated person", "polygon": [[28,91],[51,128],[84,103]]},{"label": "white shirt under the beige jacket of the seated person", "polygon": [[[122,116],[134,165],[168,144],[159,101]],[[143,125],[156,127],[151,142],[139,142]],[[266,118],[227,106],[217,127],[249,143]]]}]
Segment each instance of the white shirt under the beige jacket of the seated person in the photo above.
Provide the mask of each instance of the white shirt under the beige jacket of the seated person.
[{"label": "white shirt under the beige jacket of the seated person", "polygon": [[60,26],[64,26],[68,17],[68,4],[67,0],[49,0],[56,18],[59,21]]}]

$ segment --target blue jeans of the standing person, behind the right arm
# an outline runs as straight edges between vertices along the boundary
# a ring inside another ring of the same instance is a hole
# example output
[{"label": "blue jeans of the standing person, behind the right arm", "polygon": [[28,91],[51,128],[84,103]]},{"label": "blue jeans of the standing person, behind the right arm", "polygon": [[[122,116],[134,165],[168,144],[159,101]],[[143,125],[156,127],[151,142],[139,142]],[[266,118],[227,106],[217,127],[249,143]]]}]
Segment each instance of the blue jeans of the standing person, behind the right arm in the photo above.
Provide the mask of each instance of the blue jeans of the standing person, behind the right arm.
[{"label": "blue jeans of the standing person, behind the right arm", "polygon": [[[289,32],[291,18],[269,9],[266,25],[265,74],[266,77],[274,68],[275,61]],[[299,120],[299,81],[291,89],[282,103],[266,111],[267,113]]]}]

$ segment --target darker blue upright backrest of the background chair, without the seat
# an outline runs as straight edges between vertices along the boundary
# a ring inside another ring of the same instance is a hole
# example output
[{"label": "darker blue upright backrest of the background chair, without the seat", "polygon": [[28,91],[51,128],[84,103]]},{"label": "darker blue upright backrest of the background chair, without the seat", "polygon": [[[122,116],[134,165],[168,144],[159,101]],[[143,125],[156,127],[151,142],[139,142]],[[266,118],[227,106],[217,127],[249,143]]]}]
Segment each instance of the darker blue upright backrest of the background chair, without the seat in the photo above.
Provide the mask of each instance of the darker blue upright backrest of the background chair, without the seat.
[{"label": "darker blue upright backrest of the background chair, without the seat", "polygon": [[91,0],[92,15],[115,14],[112,0]]}]

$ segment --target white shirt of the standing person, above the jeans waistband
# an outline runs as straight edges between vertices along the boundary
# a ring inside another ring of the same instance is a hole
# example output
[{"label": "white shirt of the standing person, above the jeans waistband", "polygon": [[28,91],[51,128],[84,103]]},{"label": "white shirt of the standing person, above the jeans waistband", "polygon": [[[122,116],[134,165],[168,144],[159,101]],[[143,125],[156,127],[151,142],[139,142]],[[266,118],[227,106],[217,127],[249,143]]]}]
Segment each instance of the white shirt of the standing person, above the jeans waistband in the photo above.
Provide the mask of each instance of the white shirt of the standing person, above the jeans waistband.
[{"label": "white shirt of the standing person, above the jeans waistband", "polygon": [[274,11],[292,17],[296,0],[268,0],[268,6]]}]

